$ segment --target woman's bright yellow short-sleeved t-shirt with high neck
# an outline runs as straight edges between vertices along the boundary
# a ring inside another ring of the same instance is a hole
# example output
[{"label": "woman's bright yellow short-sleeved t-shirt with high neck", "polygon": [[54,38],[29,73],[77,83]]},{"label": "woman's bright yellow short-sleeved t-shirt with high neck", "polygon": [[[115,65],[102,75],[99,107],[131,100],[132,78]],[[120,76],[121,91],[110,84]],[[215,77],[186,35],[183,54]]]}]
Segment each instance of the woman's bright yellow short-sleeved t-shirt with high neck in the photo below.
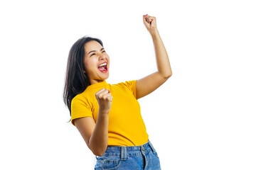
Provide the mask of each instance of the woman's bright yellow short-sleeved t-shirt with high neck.
[{"label": "woman's bright yellow short-sleeved t-shirt with high neck", "polygon": [[95,93],[100,89],[110,90],[113,96],[109,113],[108,145],[139,146],[148,142],[149,135],[142,119],[139,102],[136,99],[136,80],[119,84],[107,84],[102,81],[87,86],[71,101],[71,123],[82,117],[92,117],[97,121],[99,104]]}]

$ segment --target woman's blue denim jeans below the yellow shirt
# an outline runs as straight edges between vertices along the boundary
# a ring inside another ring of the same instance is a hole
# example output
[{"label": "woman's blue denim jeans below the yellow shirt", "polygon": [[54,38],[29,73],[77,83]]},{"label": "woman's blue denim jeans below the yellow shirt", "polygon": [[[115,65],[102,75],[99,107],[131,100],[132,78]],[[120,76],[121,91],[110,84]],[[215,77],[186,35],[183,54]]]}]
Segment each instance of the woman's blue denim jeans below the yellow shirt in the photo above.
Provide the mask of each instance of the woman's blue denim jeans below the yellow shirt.
[{"label": "woman's blue denim jeans below the yellow shirt", "polygon": [[95,170],[161,170],[156,149],[150,141],[135,147],[107,146],[101,157],[95,157]]}]

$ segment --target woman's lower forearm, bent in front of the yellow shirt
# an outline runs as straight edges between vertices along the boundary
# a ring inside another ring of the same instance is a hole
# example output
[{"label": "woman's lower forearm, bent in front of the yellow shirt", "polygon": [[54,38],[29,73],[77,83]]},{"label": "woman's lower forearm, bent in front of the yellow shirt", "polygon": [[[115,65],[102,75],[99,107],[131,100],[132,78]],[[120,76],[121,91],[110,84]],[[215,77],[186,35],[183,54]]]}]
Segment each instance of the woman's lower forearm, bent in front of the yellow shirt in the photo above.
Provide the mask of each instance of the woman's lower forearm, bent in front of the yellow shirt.
[{"label": "woman's lower forearm, bent in front of the yellow shirt", "polygon": [[89,140],[89,147],[93,154],[97,156],[102,156],[107,149],[108,144],[108,124],[109,115],[102,114],[99,111],[95,129]]}]

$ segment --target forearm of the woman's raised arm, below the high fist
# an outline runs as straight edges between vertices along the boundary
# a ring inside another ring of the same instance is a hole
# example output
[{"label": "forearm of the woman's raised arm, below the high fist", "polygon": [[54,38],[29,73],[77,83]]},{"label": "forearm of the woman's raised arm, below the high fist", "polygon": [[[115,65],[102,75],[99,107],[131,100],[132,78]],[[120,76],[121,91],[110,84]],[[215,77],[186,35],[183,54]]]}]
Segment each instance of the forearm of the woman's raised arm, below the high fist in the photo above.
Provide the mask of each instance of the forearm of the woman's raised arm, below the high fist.
[{"label": "forearm of the woman's raised arm, below the high fist", "polygon": [[151,30],[150,35],[154,43],[158,72],[164,77],[171,77],[172,72],[169,57],[164,47],[164,43],[161,40],[159,31],[155,28],[154,30]]}]

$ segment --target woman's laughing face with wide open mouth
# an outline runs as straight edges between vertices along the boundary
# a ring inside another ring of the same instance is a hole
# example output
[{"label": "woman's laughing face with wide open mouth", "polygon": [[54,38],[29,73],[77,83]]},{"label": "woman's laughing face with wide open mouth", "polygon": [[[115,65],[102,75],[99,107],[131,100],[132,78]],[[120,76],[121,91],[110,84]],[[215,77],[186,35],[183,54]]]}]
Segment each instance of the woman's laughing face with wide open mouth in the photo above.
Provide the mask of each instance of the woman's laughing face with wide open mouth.
[{"label": "woman's laughing face with wide open mouth", "polygon": [[85,43],[83,62],[85,65],[84,72],[87,73],[91,84],[105,81],[109,77],[110,57],[99,42],[92,40]]}]

